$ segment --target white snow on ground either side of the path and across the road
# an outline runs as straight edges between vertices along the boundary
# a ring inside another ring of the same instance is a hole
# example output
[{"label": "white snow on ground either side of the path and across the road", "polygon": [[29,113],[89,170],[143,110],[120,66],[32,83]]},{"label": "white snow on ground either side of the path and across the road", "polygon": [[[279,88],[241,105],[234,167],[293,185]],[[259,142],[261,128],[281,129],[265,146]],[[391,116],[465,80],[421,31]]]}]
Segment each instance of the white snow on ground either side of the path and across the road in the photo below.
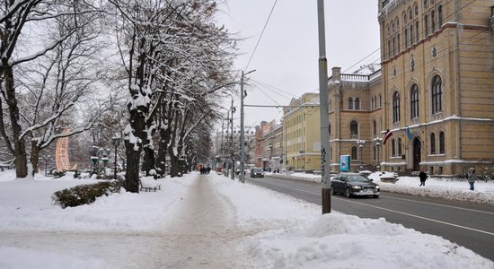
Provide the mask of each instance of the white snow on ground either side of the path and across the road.
[{"label": "white snow on ground either side of the path and across the road", "polygon": [[[238,240],[243,251],[234,258],[250,268],[494,268],[492,261],[437,236],[384,219],[321,215],[318,205],[214,173],[165,178],[156,192],[122,192],[61,209],[50,200],[56,190],[95,180],[14,180],[13,171],[0,173],[0,268],[149,267],[137,257],[166,251],[158,247],[160,238],[151,235],[172,223],[167,217],[196,180],[207,180],[219,202],[227,204],[234,229],[244,235]],[[413,180],[400,178],[393,187],[425,189]],[[431,178],[426,183],[426,188],[437,189],[434,193],[468,189],[465,182],[457,189],[434,182]],[[477,186],[472,193],[492,195],[491,184]],[[200,225],[200,218],[196,221]],[[223,246],[211,247],[221,251]]]}]

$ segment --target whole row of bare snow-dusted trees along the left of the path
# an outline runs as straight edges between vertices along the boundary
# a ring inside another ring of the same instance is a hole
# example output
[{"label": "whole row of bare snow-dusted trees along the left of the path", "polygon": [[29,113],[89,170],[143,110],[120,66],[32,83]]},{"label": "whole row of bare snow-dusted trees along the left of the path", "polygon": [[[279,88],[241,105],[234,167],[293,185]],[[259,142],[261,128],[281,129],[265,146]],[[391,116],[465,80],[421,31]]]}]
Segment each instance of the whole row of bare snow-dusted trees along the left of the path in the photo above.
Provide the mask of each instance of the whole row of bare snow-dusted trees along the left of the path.
[{"label": "whole row of bare snow-dusted trees along the left of the path", "polygon": [[28,150],[36,168],[58,137],[118,122],[122,105],[128,191],[167,156],[176,176],[236,84],[236,40],[216,25],[216,1],[6,0],[0,12],[0,133],[18,178]]}]

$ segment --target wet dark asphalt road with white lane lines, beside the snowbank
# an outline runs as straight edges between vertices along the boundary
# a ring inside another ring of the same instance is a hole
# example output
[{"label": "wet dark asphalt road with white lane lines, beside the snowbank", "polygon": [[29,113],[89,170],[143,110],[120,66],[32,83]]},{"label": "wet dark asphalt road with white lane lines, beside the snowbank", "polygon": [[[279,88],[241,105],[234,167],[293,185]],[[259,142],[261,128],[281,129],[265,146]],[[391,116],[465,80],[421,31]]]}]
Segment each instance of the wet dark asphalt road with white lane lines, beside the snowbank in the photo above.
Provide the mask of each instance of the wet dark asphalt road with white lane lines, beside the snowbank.
[{"label": "wet dark asphalt road with white lane lines, beside the snowbank", "polygon": [[[322,190],[318,183],[246,176],[248,184],[321,204]],[[494,208],[491,206],[381,192],[378,199],[331,195],[331,210],[360,218],[385,218],[388,222],[448,239],[494,261]]]}]

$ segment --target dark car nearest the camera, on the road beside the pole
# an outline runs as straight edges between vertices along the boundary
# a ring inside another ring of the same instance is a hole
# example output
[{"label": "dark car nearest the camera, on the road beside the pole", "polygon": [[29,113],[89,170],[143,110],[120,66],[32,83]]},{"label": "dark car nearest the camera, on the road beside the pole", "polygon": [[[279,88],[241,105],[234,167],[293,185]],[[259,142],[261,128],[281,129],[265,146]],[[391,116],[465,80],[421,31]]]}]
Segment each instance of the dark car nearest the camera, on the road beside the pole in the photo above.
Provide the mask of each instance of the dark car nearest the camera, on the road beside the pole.
[{"label": "dark car nearest the camera, on the road beside the pole", "polygon": [[379,197],[380,187],[357,173],[340,173],[331,179],[331,195],[344,194],[347,197],[372,195]]}]

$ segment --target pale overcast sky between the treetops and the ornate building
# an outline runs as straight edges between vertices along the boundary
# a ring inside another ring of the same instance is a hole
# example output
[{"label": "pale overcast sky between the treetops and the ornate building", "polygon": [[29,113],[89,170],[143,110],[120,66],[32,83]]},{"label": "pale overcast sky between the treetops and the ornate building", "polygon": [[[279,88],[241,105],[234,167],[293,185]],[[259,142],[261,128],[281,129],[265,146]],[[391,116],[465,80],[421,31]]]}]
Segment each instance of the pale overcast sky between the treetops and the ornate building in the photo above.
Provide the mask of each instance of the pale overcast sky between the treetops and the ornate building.
[{"label": "pale overcast sky between the treetops and the ornate building", "polygon": [[[275,0],[227,0],[227,7],[222,7],[225,14],[218,17],[219,23],[244,38],[239,44],[243,55],[238,56],[235,66],[247,68],[247,72],[256,70],[249,74],[252,82],[246,86],[245,104],[288,105],[292,98],[318,89],[317,0],[278,0],[251,58],[274,3]],[[334,66],[351,72],[360,65],[378,63],[377,0],[327,0],[324,5],[329,74]],[[359,63],[366,56],[369,57]],[[352,65],[355,66],[350,68]],[[239,126],[240,100],[234,102],[234,125]],[[282,116],[281,108],[245,108],[245,125],[259,125],[262,120],[279,120]]]}]

